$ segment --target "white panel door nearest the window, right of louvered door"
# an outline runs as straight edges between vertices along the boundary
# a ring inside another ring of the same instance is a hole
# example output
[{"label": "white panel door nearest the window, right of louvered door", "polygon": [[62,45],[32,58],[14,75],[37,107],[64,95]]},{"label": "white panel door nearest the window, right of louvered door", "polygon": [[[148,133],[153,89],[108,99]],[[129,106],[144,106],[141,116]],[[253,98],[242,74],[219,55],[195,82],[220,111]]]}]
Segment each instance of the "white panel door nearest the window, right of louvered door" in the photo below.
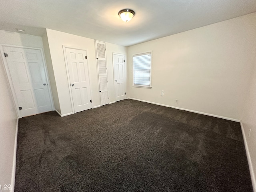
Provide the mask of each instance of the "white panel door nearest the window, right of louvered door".
[{"label": "white panel door nearest the window, right of louvered door", "polygon": [[125,60],[124,55],[113,54],[116,101],[125,99]]}]

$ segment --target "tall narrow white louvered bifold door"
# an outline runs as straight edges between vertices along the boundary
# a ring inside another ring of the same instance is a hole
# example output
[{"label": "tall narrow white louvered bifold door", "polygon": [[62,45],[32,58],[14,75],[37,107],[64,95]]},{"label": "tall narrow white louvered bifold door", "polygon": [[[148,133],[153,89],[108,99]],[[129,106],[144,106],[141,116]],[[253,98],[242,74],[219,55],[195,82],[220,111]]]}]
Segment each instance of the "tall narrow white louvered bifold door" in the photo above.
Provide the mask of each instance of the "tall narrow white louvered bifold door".
[{"label": "tall narrow white louvered bifold door", "polygon": [[106,46],[104,42],[95,41],[96,57],[98,65],[98,75],[100,84],[100,103],[102,105],[109,104],[108,99],[108,73],[106,63]]}]

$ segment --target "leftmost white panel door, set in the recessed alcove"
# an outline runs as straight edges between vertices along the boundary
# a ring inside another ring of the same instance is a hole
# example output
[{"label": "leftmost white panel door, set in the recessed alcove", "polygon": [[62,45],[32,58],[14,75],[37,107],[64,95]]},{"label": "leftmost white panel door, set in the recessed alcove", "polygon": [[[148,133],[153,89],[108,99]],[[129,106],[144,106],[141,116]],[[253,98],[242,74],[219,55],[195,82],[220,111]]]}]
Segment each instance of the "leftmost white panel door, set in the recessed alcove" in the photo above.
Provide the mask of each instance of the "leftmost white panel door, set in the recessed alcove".
[{"label": "leftmost white panel door, set in the recessed alcove", "polygon": [[40,50],[3,46],[22,117],[52,110]]}]

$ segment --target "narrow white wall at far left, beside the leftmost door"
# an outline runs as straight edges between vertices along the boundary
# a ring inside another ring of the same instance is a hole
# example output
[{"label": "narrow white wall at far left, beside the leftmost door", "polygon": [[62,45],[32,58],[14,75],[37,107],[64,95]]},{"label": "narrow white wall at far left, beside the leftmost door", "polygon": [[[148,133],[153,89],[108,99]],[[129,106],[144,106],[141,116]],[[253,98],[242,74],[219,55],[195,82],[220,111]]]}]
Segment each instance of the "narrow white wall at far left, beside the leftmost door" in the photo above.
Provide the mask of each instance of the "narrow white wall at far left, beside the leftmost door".
[{"label": "narrow white wall at far left, beside the leftmost door", "polygon": [[12,166],[14,158],[14,141],[18,116],[0,57],[0,185],[12,184]]}]

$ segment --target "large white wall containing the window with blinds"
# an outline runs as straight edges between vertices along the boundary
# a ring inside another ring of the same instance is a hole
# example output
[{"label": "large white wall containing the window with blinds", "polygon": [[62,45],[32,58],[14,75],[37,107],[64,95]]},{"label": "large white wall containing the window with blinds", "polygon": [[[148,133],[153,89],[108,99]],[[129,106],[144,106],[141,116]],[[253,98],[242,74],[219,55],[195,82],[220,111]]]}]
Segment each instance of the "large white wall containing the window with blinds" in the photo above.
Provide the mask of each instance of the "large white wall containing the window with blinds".
[{"label": "large white wall containing the window with blinds", "polygon": [[[255,24],[253,13],[128,47],[128,97],[241,120],[256,62]],[[134,88],[132,55],[148,51],[152,89]]]}]

